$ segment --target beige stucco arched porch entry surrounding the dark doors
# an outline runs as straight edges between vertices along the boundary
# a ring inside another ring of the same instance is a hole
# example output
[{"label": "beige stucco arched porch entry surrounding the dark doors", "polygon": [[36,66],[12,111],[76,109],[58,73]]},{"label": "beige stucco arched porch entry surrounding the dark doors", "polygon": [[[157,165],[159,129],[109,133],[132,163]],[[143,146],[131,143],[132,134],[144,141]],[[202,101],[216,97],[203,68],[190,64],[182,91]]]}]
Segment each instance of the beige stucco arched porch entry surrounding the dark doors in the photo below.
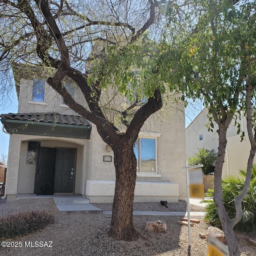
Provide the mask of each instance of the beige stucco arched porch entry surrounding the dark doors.
[{"label": "beige stucco arched porch entry surrounding the dark doors", "polygon": [[35,136],[12,134],[10,145],[10,161],[8,166],[7,194],[33,194],[35,179],[35,164],[26,164],[28,140],[40,140],[42,147],[76,148],[75,194],[85,194],[88,173],[86,147],[89,140],[76,138],[58,138],[49,136]]}]

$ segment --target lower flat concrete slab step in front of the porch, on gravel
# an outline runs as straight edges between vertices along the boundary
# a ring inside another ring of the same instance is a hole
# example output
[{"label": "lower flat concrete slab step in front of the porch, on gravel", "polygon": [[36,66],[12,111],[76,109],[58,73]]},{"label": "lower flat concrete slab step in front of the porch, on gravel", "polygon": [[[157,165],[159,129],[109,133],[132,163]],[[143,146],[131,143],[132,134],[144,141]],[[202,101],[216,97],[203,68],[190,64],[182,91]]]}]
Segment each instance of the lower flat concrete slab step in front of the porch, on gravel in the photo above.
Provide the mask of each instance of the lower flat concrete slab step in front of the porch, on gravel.
[{"label": "lower flat concrete slab step in front of the porch, on gravel", "polygon": [[102,213],[100,208],[91,204],[56,204],[60,214],[64,213]]}]

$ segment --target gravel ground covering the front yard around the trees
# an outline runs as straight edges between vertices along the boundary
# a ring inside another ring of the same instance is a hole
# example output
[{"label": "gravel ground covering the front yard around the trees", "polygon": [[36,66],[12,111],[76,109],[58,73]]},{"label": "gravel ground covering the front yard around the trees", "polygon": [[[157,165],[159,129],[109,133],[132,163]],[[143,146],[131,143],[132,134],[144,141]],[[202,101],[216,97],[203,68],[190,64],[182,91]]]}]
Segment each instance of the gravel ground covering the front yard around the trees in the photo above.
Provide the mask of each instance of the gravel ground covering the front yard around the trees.
[{"label": "gravel ground covering the front yard around the trees", "polygon": [[[0,201],[1,202],[1,201]],[[185,202],[186,203],[186,202]],[[175,206],[168,204],[170,211],[185,211],[184,202]],[[111,204],[94,204],[109,210]],[[106,208],[105,208],[106,207]],[[135,203],[134,210],[161,210],[157,203]],[[185,206],[186,208],[186,206]],[[198,206],[192,206],[193,211],[202,211]],[[206,240],[199,234],[205,234],[208,224],[203,217],[199,224],[191,227],[192,246],[188,250],[187,226],[177,224],[180,217],[176,216],[134,216],[134,226],[143,235],[135,242],[117,241],[107,236],[111,218],[104,214],[58,214],[52,199],[26,199],[0,205],[1,216],[26,211],[45,210],[53,214],[55,224],[48,226],[41,232],[36,232],[22,238],[15,238],[11,242],[21,242],[22,247],[0,247],[1,256],[204,256],[206,255]],[[194,210],[196,209],[196,210]],[[110,209],[111,210],[111,209]],[[144,230],[145,223],[163,220],[167,224],[166,233],[152,233]],[[36,241],[52,241],[52,247],[25,247],[25,242],[34,245]],[[238,234],[238,242],[243,256],[255,256],[255,247],[250,246],[242,234]]]}]

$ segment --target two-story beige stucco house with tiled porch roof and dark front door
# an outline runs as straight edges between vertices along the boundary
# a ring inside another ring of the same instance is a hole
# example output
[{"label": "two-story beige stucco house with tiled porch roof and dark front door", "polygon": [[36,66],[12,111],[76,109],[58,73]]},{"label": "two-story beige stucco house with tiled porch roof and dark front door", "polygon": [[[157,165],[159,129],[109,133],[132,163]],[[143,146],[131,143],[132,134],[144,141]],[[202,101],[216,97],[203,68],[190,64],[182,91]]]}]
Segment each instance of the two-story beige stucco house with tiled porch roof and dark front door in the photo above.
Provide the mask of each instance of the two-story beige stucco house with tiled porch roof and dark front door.
[{"label": "two-story beige stucco house with tiled porch roof and dark front door", "polygon": [[[18,113],[1,114],[3,129],[10,134],[8,201],[22,194],[80,194],[91,203],[112,202],[114,154],[96,126],[66,106],[40,74],[17,76]],[[75,87],[65,86],[77,102],[86,104]],[[134,202],[186,200],[184,106],[167,103],[148,118],[134,147]]]}]

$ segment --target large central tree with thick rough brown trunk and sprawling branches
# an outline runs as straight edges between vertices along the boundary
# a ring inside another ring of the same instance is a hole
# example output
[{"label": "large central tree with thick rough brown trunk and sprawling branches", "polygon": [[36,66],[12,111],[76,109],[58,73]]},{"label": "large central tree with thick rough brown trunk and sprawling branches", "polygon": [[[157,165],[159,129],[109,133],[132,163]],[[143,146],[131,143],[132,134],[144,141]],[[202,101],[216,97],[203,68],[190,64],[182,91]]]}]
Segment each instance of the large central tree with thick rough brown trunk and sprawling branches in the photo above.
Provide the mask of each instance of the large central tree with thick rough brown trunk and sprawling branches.
[{"label": "large central tree with thick rough brown trunk and sprawling branches", "polygon": [[[146,119],[162,107],[158,83],[143,91],[143,70],[154,72],[148,62],[150,48],[144,52],[145,45],[154,47],[153,36],[147,40],[144,34],[158,32],[153,25],[160,20],[162,4],[165,1],[0,0],[2,86],[13,62],[46,66],[53,71],[48,84],[66,105],[96,124],[102,140],[114,152],[116,187],[110,235],[118,239],[139,237],[132,222],[133,147]],[[140,72],[134,75],[136,70]],[[68,93],[62,83],[66,76],[74,80],[87,105]],[[131,99],[122,110],[110,107],[112,100],[107,102],[108,109],[115,112],[113,118],[102,101],[106,88]],[[142,95],[147,98],[144,103],[139,100]]]}]

